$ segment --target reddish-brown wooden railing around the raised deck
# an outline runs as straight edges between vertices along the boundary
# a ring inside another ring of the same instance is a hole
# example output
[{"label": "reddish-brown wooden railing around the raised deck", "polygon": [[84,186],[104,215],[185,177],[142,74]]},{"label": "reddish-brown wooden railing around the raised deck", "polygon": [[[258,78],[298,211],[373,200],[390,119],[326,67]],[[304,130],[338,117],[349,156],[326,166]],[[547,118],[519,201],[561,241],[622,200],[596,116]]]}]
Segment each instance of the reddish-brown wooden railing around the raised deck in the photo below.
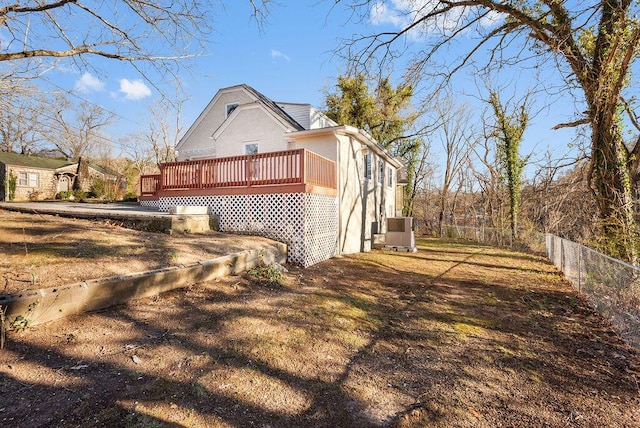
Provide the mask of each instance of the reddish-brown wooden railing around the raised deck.
[{"label": "reddish-brown wooden railing around the raised deck", "polygon": [[169,162],[160,174],[140,177],[140,193],[257,186],[310,185],[336,189],[336,164],[306,149]]}]

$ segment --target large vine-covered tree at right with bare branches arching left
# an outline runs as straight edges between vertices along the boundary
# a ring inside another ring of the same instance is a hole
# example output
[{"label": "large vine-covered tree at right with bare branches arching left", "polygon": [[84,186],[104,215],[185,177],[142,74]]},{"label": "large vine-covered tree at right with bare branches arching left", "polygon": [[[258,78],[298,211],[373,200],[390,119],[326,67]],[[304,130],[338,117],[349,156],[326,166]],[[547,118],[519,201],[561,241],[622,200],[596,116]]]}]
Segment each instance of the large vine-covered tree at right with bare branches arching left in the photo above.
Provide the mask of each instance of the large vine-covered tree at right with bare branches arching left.
[{"label": "large vine-covered tree at right with bare branches arching left", "polygon": [[[389,12],[385,1],[338,1],[365,16]],[[640,5],[631,0],[407,0],[394,5],[397,30],[356,36],[346,44],[346,55],[354,63],[384,64],[415,52],[409,72],[420,76],[443,70],[433,67],[436,54],[466,37],[473,43],[457,62],[444,67],[445,81],[476,54],[500,66],[519,64],[527,57],[536,65],[557,65],[564,88],[579,94],[586,108],[574,121],[556,127],[590,126],[587,176],[602,236],[611,254],[635,263],[640,239],[632,189],[640,167],[640,141],[623,140],[623,115],[638,134],[640,121],[629,95],[634,88],[630,71],[640,53]],[[423,45],[407,49],[416,40]]]}]

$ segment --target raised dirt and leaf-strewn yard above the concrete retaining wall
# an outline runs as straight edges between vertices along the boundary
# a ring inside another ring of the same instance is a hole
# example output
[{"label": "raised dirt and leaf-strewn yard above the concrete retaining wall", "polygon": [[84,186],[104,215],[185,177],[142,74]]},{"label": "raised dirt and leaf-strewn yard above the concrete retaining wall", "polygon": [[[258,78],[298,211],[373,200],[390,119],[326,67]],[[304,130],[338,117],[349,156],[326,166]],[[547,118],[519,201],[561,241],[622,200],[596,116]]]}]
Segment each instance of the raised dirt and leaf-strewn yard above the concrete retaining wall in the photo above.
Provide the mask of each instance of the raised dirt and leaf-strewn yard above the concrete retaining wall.
[{"label": "raised dirt and leaf-strewn yard above the concrete retaining wall", "polygon": [[148,233],[108,221],[0,210],[0,293],[188,265],[270,243],[254,236]]}]

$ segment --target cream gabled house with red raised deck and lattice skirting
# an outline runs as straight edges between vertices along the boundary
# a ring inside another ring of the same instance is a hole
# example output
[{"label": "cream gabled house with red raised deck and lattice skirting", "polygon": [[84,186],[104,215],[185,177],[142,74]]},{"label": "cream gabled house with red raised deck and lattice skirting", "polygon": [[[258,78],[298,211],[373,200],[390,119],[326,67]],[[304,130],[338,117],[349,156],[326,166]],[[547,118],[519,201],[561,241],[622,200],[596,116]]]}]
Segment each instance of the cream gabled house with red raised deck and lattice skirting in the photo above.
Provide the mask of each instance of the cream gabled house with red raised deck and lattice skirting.
[{"label": "cream gabled house with red raised deck and lattice skirting", "polygon": [[176,149],[142,177],[141,204],[208,206],[221,230],[286,242],[303,266],[369,251],[399,208],[402,164],[369,134],[244,84],[220,89]]}]

